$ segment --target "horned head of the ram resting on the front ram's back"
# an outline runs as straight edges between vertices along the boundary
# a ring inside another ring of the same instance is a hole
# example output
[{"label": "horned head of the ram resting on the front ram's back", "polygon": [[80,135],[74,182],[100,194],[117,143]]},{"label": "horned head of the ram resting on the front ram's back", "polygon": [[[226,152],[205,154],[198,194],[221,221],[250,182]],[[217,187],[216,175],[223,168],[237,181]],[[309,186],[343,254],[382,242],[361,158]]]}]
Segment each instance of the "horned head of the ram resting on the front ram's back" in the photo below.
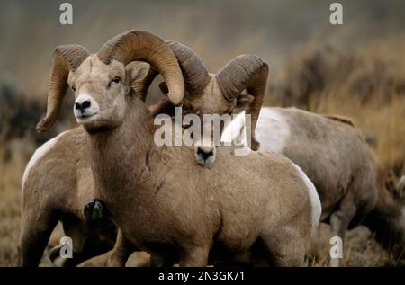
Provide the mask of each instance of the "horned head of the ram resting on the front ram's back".
[{"label": "horned head of the ram resting on the front ram's back", "polygon": [[[222,115],[230,114],[235,109],[246,109],[246,113],[251,115],[250,147],[257,150],[260,144],[256,139],[255,129],[266,93],[266,61],[256,55],[240,55],[230,60],[216,74],[210,74],[193,49],[173,41],[167,43],[173,49],[183,72],[184,109],[201,117],[204,114]],[[169,92],[165,83],[160,85],[160,89],[164,94]],[[246,93],[243,93],[244,91]],[[215,160],[213,144],[196,142],[196,145],[195,157],[200,164],[209,164]]]}]

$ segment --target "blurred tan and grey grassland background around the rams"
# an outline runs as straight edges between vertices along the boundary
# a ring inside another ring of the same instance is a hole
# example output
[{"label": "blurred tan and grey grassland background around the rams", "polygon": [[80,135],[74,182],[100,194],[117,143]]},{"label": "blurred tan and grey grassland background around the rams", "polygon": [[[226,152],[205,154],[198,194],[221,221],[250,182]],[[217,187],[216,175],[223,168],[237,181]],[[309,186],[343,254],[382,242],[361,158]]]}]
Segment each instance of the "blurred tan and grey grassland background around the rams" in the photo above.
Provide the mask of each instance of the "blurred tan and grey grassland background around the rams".
[{"label": "blurred tan and grey grassland background around the rams", "polygon": [[[343,25],[331,25],[334,1],[69,1],[73,25],[61,25],[63,1],[0,1],[0,265],[16,263],[21,178],[33,151],[76,126],[67,94],[58,124],[35,132],[44,114],[50,59],[59,44],[91,51],[122,31],[155,33],[194,49],[211,72],[255,53],[270,64],[266,104],[344,115],[374,149],[382,174],[405,173],[405,2],[338,1]],[[148,102],[156,102],[156,83]],[[50,244],[58,243],[60,230]],[[357,228],[347,266],[395,266],[372,233]],[[320,227],[309,265],[328,264],[329,227]],[[46,255],[46,254],[45,254]],[[103,257],[86,263],[99,265]],[[50,265],[44,256],[42,265]]]}]

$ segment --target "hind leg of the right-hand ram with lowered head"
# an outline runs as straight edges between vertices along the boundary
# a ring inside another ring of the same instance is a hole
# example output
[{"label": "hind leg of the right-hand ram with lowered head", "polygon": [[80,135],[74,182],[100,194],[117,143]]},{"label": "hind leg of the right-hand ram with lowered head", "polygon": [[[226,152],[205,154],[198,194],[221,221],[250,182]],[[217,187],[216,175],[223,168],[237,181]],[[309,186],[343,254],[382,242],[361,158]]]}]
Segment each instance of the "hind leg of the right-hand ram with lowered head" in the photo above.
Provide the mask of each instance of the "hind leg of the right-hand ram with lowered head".
[{"label": "hind leg of the right-hand ram with lowered head", "polygon": [[[342,241],[342,250],[345,243],[347,227],[350,221],[356,215],[356,205],[352,198],[352,195],[347,193],[347,196],[340,202],[338,210],[333,212],[330,216],[330,227],[332,228],[332,237],[338,236]],[[343,254],[343,252],[342,252]],[[330,259],[330,266],[338,267],[340,265],[339,257]]]}]

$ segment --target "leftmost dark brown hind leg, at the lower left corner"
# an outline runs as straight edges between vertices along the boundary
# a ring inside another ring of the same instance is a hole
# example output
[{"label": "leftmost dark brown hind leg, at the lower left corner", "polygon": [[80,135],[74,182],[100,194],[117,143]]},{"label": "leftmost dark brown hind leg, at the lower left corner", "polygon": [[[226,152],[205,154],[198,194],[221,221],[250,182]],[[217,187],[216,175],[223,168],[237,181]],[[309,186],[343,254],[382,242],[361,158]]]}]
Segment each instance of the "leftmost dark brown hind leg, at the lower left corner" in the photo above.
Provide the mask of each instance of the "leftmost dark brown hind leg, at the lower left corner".
[{"label": "leftmost dark brown hind leg, at the lower left corner", "polygon": [[57,224],[58,218],[51,211],[23,211],[18,242],[19,266],[38,266]]}]

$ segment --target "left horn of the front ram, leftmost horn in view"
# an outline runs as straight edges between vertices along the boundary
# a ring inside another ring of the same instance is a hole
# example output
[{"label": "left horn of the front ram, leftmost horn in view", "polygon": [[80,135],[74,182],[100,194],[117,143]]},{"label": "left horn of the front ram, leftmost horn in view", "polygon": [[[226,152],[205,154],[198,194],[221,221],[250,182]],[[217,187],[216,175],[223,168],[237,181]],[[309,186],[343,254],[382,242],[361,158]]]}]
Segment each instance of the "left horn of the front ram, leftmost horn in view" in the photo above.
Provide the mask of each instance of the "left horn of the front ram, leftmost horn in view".
[{"label": "left horn of the front ram, leftmost horn in view", "polygon": [[47,114],[37,124],[38,131],[46,131],[55,123],[67,91],[69,71],[75,71],[89,55],[90,52],[80,45],[62,45],[55,49],[50,67]]}]

